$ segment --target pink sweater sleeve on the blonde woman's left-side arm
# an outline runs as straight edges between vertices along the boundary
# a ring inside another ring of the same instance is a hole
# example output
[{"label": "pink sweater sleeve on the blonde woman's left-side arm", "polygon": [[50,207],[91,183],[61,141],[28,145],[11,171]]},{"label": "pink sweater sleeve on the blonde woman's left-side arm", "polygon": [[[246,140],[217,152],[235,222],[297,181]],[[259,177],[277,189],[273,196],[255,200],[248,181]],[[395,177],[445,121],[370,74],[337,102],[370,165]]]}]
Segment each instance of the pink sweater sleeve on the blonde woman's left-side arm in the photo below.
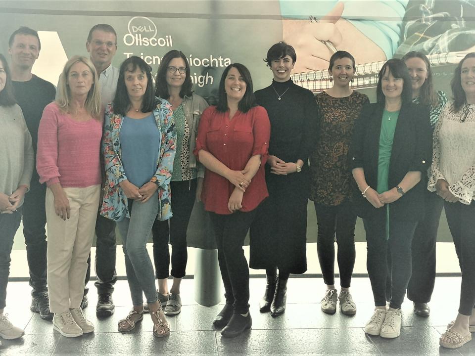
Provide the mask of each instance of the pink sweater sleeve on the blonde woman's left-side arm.
[{"label": "pink sweater sleeve on the blonde woman's left-side arm", "polygon": [[36,169],[40,183],[49,186],[59,182],[58,160],[58,116],[50,107],[46,107],[38,128],[38,152]]}]

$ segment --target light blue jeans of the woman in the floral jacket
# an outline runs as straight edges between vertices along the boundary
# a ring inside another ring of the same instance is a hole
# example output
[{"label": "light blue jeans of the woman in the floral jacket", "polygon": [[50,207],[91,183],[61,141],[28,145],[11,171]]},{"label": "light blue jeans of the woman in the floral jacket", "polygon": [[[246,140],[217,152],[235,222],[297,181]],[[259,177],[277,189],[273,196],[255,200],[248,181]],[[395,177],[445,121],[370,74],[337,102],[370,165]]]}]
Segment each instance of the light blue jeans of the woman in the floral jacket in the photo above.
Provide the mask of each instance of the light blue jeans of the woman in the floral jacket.
[{"label": "light blue jeans of the woman in the floral jacket", "polygon": [[125,270],[129,282],[130,295],[134,306],[143,304],[143,294],[147,303],[157,301],[155,275],[146,244],[153,222],[157,217],[158,193],[145,203],[129,202],[130,219],[117,222],[125,255]]}]

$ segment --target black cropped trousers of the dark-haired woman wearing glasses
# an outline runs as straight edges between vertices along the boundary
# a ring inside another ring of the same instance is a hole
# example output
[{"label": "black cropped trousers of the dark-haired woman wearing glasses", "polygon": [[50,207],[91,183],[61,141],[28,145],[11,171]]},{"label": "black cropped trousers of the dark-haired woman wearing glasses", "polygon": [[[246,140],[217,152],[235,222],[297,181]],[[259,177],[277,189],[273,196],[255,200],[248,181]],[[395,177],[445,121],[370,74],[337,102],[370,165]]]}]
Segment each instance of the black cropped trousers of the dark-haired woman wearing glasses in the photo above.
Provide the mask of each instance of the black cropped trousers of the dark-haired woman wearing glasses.
[{"label": "black cropped trousers of the dark-haired woman wearing glasses", "polygon": [[171,189],[173,217],[166,221],[155,220],[152,227],[153,262],[157,279],[169,276],[168,241],[172,245],[172,276],[183,278],[188,262],[187,229],[196,195],[196,179],[172,181]]}]

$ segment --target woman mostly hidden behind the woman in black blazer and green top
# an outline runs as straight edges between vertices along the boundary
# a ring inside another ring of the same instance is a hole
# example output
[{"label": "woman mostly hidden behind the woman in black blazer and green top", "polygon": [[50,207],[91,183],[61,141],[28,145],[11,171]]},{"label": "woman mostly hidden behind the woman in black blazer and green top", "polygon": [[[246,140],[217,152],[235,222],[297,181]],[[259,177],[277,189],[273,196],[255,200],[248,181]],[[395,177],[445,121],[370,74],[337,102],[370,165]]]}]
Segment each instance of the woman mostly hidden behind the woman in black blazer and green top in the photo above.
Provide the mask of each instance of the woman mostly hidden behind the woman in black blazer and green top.
[{"label": "woman mostly hidden behind the woman in black blazer and green top", "polygon": [[[447,97],[443,91],[435,91],[432,84],[430,62],[422,52],[411,51],[401,60],[406,64],[411,77],[412,101],[429,109],[430,126],[433,132],[435,124]],[[430,170],[428,172],[430,174]],[[427,175],[423,174],[427,181]],[[425,190],[425,215],[419,221],[412,240],[412,275],[407,286],[407,298],[414,302],[416,315],[428,316],[427,303],[434,290],[435,283],[435,243],[439,227],[440,214],[444,201],[436,193]]]}]

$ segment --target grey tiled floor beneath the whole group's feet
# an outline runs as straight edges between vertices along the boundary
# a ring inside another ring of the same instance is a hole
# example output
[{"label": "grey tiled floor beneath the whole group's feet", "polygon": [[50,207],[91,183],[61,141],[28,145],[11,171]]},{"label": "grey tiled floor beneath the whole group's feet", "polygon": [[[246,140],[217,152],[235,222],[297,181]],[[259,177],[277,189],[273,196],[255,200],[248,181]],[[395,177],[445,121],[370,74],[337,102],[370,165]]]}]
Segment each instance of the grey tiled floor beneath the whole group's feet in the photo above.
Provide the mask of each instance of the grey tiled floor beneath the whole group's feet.
[{"label": "grey tiled floor beneath the whole group's feet", "polygon": [[457,313],[460,277],[437,277],[430,303],[432,312],[427,319],[415,316],[411,303],[406,301],[402,333],[393,340],[368,337],[363,331],[373,311],[368,278],[353,278],[352,294],[358,307],[354,316],[321,312],[321,278],[291,278],[285,314],[276,318],[261,314],[258,302],[264,284],[263,278],[250,280],[252,329],[235,339],[225,339],[211,324],[222,306],[197,305],[193,300],[193,280],[184,280],[182,312],[169,317],[170,336],[157,339],[147,315],[134,332],[117,331],[118,320],[130,309],[126,281],[116,284],[114,315],[101,320],[95,316],[95,288],[90,282],[90,306],[85,312],[95,323],[95,333],[67,339],[53,332],[50,322],[29,311],[28,283],[10,282],[5,312],[16,325],[25,327],[26,335],[18,340],[2,340],[0,355],[475,355],[475,341],[458,350],[438,346],[444,325]]}]

